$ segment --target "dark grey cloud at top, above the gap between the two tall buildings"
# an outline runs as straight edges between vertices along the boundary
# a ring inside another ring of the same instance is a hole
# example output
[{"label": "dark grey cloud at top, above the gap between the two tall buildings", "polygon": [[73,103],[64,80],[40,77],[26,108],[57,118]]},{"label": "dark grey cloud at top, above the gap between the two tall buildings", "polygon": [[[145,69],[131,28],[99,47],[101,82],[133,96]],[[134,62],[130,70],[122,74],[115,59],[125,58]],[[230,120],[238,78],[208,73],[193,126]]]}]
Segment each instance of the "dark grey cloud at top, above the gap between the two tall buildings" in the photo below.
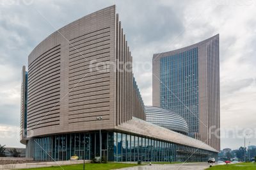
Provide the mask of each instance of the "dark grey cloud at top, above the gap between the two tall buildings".
[{"label": "dark grey cloud at top, above the gap between the two tall buildings", "polygon": [[[120,18],[128,19],[130,22],[124,23],[124,30],[127,33],[133,33],[131,36],[127,36],[129,43],[136,45],[138,43],[154,43],[156,41],[165,41],[166,38],[175,36],[184,28],[182,20],[178,16],[179,13],[175,11],[175,8],[170,8],[163,5],[157,5],[156,3],[148,3],[148,1],[142,1],[139,5],[132,6],[127,13],[120,13]],[[156,4],[156,5],[155,5]],[[122,10],[122,9],[121,9]],[[121,11],[120,10],[120,11]],[[138,13],[140,12],[140,13]],[[133,13],[137,13],[136,17],[131,16]],[[141,34],[143,33],[143,34]]]}]

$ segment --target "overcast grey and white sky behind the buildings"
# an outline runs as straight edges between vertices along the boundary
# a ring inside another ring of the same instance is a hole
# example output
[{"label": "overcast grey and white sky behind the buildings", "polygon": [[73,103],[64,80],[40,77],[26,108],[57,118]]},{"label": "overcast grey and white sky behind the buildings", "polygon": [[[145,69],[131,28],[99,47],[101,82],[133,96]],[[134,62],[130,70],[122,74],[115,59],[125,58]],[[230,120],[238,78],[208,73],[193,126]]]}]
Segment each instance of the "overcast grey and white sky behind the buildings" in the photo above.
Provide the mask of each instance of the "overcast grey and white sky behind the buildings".
[{"label": "overcast grey and white sky behind the buildings", "polygon": [[[220,34],[221,148],[256,145],[256,1],[0,0],[0,144],[19,143],[20,75],[44,38],[92,12],[116,4],[132,52],[134,74],[152,105],[152,56]],[[38,14],[42,13],[42,15]],[[136,69],[140,63],[149,63]],[[243,131],[245,129],[246,131]],[[234,135],[233,132],[236,132]],[[234,131],[236,130],[236,131]]]}]

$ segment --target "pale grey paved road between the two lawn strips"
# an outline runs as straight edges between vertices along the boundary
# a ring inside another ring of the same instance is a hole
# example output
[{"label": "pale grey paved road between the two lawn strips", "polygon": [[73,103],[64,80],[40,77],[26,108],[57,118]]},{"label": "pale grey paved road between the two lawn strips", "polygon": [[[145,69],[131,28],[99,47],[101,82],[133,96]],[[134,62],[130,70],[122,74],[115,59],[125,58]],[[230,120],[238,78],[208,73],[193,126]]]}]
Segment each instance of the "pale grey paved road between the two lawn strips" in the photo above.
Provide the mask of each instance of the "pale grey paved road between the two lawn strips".
[{"label": "pale grey paved road between the two lawn strips", "polygon": [[210,164],[207,163],[185,163],[185,164],[152,164],[152,166],[138,166],[138,167],[126,167],[122,170],[204,170],[209,167]]}]

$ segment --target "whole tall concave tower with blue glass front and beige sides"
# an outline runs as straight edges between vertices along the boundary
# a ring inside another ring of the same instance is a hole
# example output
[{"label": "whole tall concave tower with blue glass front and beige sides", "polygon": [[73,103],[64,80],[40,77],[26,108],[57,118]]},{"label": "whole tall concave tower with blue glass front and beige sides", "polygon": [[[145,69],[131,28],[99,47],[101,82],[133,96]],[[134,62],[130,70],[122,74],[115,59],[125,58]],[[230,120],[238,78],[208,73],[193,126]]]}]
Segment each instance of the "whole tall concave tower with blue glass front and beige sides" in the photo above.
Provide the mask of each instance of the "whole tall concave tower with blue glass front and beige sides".
[{"label": "whole tall concave tower with blue glass front and beige sides", "polygon": [[220,150],[219,35],[153,56],[153,105],[177,112],[189,136]]}]

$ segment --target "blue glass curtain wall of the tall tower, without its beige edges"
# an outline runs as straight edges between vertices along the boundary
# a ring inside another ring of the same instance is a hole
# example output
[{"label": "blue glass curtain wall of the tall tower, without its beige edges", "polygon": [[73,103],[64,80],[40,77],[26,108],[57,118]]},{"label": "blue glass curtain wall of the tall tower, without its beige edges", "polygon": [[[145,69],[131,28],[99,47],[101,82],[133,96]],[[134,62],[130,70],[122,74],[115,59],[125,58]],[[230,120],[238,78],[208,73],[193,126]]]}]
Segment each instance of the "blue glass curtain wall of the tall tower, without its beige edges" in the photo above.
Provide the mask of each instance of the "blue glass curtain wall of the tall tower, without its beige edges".
[{"label": "blue glass curtain wall of the tall tower, without its beige edges", "polygon": [[188,121],[189,136],[198,132],[198,49],[160,59],[160,106]]}]

